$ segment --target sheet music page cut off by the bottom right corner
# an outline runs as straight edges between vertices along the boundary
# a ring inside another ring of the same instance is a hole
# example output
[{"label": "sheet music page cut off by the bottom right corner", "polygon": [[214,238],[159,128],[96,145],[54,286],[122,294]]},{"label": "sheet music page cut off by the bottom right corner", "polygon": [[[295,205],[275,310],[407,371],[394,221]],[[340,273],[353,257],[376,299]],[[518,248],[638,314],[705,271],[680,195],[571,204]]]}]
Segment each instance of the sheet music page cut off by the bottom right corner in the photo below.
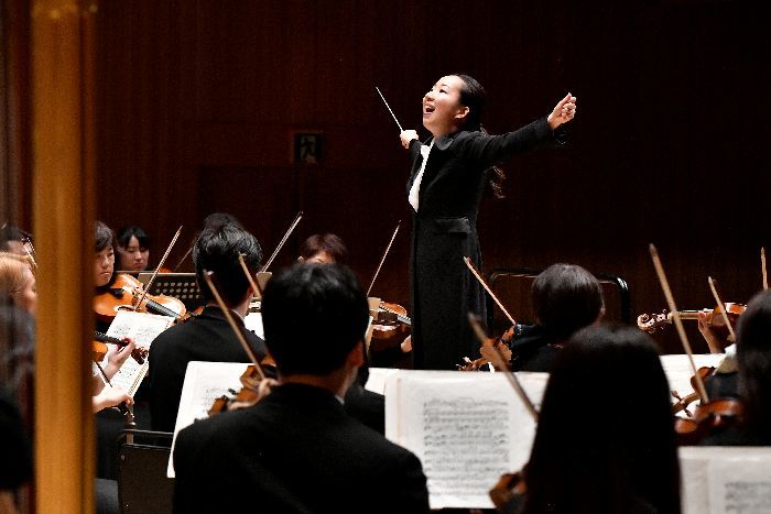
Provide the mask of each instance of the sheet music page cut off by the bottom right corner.
[{"label": "sheet music page cut off by the bottom right corner", "polygon": [[685,514],[771,513],[771,448],[680,449]]}]

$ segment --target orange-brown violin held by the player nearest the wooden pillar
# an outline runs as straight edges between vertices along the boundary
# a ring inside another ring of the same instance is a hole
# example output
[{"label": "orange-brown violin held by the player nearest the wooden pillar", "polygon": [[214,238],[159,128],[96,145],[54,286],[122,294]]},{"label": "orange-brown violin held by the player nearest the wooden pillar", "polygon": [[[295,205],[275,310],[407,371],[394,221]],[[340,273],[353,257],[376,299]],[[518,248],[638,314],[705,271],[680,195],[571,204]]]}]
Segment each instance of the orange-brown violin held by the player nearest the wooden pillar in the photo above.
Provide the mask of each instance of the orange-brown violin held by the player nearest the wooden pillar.
[{"label": "orange-brown violin held by the player nearest the wooden pillar", "polygon": [[[137,278],[124,273],[116,275],[115,282],[110,284],[110,287],[94,297],[94,310],[97,318],[109,322],[121,308],[133,310],[140,298],[142,298],[142,283]],[[177,320],[185,319],[187,314],[185,304],[182,300],[166,295],[144,295],[137,310],[171,316]]]}]

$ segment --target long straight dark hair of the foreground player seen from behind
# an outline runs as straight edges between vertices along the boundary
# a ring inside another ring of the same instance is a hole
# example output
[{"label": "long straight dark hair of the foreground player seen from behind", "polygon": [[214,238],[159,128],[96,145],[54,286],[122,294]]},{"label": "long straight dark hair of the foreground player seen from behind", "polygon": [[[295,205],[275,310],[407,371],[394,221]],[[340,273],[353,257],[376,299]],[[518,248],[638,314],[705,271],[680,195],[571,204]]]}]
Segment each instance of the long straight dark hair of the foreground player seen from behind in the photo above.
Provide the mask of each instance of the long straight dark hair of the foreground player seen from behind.
[{"label": "long straight dark hair of the foreground player seen from behind", "polygon": [[651,338],[586,327],[557,356],[544,393],[524,512],[680,512],[670,391]]}]

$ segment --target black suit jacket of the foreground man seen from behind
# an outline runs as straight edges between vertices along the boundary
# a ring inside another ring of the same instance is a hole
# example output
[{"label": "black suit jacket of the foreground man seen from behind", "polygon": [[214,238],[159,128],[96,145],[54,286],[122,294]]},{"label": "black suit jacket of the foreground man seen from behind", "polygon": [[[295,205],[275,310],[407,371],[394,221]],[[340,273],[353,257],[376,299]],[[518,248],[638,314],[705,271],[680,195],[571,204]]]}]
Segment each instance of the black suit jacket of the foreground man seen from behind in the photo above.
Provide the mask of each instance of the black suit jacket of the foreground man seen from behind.
[{"label": "black suit jacket of the foreground man seen from behind", "polygon": [[174,449],[174,512],[428,512],[421,462],[345,414],[329,392],[276,387],[196,422]]}]

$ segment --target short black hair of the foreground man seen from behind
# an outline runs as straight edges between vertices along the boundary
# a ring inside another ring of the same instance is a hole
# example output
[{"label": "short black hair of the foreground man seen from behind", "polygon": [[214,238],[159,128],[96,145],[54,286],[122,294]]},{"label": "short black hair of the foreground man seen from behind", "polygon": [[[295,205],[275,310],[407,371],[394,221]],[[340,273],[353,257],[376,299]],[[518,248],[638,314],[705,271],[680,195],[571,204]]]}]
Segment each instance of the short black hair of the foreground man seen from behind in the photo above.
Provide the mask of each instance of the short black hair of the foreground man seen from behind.
[{"label": "short black hair of the foreground man seen from behind", "polygon": [[296,264],[273,276],[262,299],[265,345],[282,375],[326,375],[363,339],[369,311],[354,273]]}]

